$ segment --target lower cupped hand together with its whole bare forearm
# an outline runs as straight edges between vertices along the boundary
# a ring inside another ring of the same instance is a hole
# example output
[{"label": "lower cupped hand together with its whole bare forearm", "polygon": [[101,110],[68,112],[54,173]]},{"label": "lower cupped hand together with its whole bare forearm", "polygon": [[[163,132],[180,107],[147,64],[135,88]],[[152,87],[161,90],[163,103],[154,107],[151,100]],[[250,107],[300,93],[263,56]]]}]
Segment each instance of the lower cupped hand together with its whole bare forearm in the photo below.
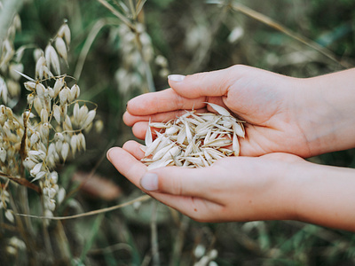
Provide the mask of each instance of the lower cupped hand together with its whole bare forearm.
[{"label": "lower cupped hand together with its whole bare forearm", "polygon": [[208,168],[156,168],[139,160],[139,144],[108,159],[156,200],[200,222],[299,220],[355,231],[355,170],[320,166],[287,153],[229,157]]}]

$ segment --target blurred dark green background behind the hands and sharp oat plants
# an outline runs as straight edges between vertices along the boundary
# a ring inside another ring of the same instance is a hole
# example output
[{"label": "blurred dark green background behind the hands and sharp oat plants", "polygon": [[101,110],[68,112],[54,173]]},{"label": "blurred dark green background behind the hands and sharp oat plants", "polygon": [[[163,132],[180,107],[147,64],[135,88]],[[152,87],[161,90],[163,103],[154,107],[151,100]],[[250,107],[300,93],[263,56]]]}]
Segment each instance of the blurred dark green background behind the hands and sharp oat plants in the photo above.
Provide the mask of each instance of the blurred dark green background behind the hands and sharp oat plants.
[{"label": "blurred dark green background behind the hands and sharp oat plants", "polygon": [[[104,122],[101,134],[88,136],[87,152],[59,168],[61,184],[73,193],[55,215],[110,207],[142,195],[106,160],[106,151],[134,139],[122,123],[127,100],[153,88],[167,88],[167,74],[246,64],[310,77],[355,62],[353,0],[220,1],[225,4],[147,0],[137,18],[131,15],[130,2],[140,1],[108,1],[136,27],[139,42],[137,33],[99,1],[32,0],[20,10],[17,48],[27,43],[44,48],[67,20],[72,30],[67,74],[78,79],[81,98],[98,104],[98,116]],[[257,12],[256,17],[243,10],[245,6]],[[270,27],[261,14],[291,34]],[[23,63],[24,73],[33,76],[30,49]],[[355,167],[354,150],[310,160]],[[88,178],[91,186],[76,189],[78,182]],[[105,197],[113,187],[112,197]],[[58,234],[59,227],[65,229],[64,236]],[[1,232],[2,246],[13,233]],[[53,221],[49,233],[53,254],[43,251],[40,233],[36,247],[43,262],[54,265],[193,265],[211,250],[217,250],[217,257],[201,265],[355,265],[355,238],[347,231],[288,221],[196,223],[152,201],[87,218]],[[153,242],[158,244],[159,259],[152,253],[152,234],[157,237]],[[0,257],[4,265],[28,263],[26,252],[11,256],[2,250]]]}]

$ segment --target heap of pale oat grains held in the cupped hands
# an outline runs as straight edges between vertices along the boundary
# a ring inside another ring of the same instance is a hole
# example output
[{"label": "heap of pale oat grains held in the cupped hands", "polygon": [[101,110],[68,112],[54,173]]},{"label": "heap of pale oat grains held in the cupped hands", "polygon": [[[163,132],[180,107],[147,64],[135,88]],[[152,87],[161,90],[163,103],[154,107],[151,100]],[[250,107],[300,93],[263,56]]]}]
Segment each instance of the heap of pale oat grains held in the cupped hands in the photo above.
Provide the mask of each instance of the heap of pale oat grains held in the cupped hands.
[{"label": "heap of pale oat grains held in the cupped hands", "polygon": [[[222,106],[208,103],[217,113],[186,111],[168,122],[149,122],[142,161],[148,169],[168,165],[200,168],[227,156],[238,156],[238,137],[245,137],[243,121]],[[153,141],[151,128],[158,129]]]}]

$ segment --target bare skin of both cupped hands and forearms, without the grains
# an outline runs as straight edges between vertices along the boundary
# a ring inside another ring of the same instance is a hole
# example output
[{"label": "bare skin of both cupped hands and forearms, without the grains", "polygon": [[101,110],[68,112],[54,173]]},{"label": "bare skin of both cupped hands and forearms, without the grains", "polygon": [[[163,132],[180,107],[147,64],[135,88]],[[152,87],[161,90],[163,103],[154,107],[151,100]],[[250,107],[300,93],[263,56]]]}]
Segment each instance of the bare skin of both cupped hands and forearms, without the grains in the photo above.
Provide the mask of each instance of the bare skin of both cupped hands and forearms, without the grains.
[{"label": "bare skin of both cupped hands and forearms, without the grains", "polygon": [[355,231],[355,170],[303,159],[355,146],[353,76],[351,69],[296,79],[232,66],[178,82],[172,77],[170,89],[128,103],[123,120],[135,136],[145,137],[149,119],[205,112],[211,102],[248,122],[242,156],[209,168],[148,172],[139,144],[129,141],[107,157],[138,188],[200,222],[289,219]]}]

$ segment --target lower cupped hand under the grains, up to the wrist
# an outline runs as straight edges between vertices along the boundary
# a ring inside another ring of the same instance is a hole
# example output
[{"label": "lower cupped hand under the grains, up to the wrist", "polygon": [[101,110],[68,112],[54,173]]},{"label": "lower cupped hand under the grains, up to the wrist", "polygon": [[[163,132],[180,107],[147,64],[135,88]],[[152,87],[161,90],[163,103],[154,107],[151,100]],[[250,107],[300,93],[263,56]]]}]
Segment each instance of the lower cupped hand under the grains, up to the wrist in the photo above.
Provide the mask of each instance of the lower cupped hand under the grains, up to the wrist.
[{"label": "lower cupped hand under the grains, up to the wrist", "polygon": [[272,153],[224,158],[209,168],[165,167],[147,172],[139,161],[143,156],[135,141],[108,152],[114,167],[139,189],[200,222],[294,218],[292,180],[286,180],[284,173],[309,164],[295,155]]}]

